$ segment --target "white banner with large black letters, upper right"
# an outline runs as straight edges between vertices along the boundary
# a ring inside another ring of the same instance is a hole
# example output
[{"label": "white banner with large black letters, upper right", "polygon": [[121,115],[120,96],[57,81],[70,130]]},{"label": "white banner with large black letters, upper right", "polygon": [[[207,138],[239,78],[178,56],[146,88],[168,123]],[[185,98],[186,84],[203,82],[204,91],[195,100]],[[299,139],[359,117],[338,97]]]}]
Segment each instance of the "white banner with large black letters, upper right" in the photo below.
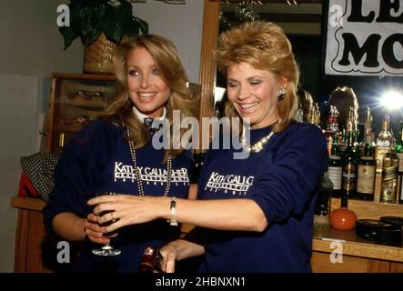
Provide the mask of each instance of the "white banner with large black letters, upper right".
[{"label": "white banner with large black letters, upper right", "polygon": [[403,0],[328,0],[327,75],[403,75]]}]

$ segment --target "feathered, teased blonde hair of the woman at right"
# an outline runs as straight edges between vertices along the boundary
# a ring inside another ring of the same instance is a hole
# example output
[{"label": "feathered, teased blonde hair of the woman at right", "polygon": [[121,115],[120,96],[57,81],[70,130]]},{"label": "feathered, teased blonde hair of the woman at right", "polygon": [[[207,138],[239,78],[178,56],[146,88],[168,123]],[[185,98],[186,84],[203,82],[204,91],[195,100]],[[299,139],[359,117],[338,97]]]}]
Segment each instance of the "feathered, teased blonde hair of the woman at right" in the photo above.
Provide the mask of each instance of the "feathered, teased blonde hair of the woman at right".
[{"label": "feathered, teased blonde hair of the woman at right", "polygon": [[[280,122],[273,126],[280,132],[295,122],[292,118],[297,105],[299,68],[291,43],[278,25],[266,21],[243,23],[219,37],[215,54],[218,70],[227,76],[232,65],[247,63],[259,70],[267,70],[280,80],[287,79],[286,95],[277,102]],[[228,117],[239,117],[230,101],[226,104]]]}]

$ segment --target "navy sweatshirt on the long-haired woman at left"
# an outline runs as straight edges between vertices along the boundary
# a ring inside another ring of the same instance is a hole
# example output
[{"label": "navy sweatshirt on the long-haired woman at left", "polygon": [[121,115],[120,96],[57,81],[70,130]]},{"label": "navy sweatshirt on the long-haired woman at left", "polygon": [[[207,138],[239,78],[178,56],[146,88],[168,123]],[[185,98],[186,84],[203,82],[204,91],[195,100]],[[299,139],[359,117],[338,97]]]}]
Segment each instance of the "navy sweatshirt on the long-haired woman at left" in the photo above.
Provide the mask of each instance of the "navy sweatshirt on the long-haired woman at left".
[{"label": "navy sweatshirt on the long-haired woman at left", "polygon": [[[60,213],[73,212],[86,218],[92,212],[87,201],[105,192],[138,195],[133,161],[124,127],[96,121],[76,133],[60,157],[55,169],[55,187],[44,208],[44,223],[52,232],[52,220]],[[166,189],[164,150],[156,150],[151,142],[136,150],[137,166],[146,196],[163,196]],[[189,151],[173,159],[172,184],[168,196],[186,198],[189,176],[193,168]],[[164,246],[179,236],[179,227],[158,219],[146,224],[120,228],[111,245],[122,250],[113,257],[91,253],[101,245],[87,242],[76,263],[77,271],[136,272],[145,246]]]}]

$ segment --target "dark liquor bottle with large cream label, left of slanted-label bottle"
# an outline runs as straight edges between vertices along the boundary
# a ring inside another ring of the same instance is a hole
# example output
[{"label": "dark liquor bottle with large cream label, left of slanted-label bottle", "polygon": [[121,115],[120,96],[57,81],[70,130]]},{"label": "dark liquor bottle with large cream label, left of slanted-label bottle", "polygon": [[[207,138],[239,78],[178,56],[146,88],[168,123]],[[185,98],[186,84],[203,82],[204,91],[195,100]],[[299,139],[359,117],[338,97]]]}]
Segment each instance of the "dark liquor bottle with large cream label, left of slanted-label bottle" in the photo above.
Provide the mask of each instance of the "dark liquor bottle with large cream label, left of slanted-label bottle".
[{"label": "dark liquor bottle with large cream label, left of slanted-label bottle", "polygon": [[364,155],[358,163],[357,191],[356,197],[363,200],[374,200],[375,173],[377,161],[374,158],[374,148],[367,144]]}]

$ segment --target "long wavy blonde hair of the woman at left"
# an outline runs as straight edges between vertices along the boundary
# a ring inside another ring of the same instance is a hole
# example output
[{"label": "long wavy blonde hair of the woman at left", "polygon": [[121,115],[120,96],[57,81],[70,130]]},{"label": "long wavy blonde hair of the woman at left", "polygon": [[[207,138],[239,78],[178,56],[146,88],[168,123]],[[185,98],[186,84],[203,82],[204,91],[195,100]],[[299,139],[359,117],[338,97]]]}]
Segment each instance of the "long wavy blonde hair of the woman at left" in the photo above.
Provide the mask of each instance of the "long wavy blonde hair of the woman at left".
[{"label": "long wavy blonde hair of the woman at left", "polygon": [[[137,47],[144,47],[153,56],[156,67],[160,72],[161,78],[171,89],[171,95],[166,102],[166,117],[169,121],[170,132],[172,133],[173,111],[180,110],[181,118],[186,116],[195,116],[198,98],[192,95],[187,88],[188,82],[185,68],[182,65],[175,45],[160,35],[139,35],[126,39],[120,45],[116,46],[113,55],[113,65],[116,73],[116,100],[108,106],[101,118],[117,123],[118,125],[129,126],[133,132],[131,139],[135,143],[135,148],[146,145],[150,138],[146,126],[140,121],[133,112],[133,102],[130,100],[127,88],[127,55]],[[181,129],[181,135],[185,129]],[[128,138],[126,136],[126,138]],[[170,146],[166,149],[165,161],[168,155],[178,156],[184,150],[182,145],[173,146],[173,138],[170,140]]]}]

